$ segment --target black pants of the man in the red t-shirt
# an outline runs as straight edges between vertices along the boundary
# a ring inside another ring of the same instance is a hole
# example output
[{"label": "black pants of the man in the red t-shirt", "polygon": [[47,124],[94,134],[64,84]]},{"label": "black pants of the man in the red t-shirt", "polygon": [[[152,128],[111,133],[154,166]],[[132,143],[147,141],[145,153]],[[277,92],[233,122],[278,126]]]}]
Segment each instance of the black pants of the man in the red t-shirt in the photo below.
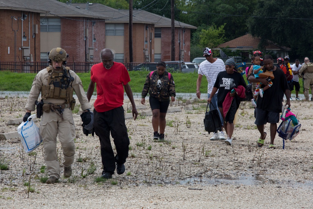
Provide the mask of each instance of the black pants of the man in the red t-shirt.
[{"label": "black pants of the man in the red t-shirt", "polygon": [[[128,157],[129,138],[125,125],[124,108],[117,107],[106,112],[94,109],[95,134],[100,139],[103,170],[114,174],[115,162],[124,164]],[[110,132],[117,154],[114,156]]]}]

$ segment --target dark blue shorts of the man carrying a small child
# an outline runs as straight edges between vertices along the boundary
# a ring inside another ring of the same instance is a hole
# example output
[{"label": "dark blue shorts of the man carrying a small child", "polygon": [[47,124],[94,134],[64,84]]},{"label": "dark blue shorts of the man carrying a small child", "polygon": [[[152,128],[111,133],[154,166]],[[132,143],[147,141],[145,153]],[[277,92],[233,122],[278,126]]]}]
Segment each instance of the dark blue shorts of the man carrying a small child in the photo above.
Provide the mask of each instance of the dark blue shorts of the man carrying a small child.
[{"label": "dark blue shorts of the man carrying a small child", "polygon": [[264,125],[266,123],[279,123],[279,112],[269,112],[259,108],[254,109],[255,125]]}]

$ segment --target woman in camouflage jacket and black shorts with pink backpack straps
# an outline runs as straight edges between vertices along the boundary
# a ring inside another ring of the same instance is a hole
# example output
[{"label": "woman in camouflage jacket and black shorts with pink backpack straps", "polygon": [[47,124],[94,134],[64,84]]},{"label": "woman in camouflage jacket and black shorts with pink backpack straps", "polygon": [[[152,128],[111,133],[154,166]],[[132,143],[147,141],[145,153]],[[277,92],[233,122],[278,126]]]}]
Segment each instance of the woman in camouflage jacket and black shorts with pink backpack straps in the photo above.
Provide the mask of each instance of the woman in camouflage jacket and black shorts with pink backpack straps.
[{"label": "woman in camouflage jacket and black shorts with pink backpack straps", "polygon": [[141,93],[141,104],[145,104],[145,97],[148,93],[152,110],[153,139],[164,140],[167,108],[170,104],[170,99],[174,102],[176,96],[174,79],[166,71],[165,62],[158,62],[156,70],[148,73]]}]

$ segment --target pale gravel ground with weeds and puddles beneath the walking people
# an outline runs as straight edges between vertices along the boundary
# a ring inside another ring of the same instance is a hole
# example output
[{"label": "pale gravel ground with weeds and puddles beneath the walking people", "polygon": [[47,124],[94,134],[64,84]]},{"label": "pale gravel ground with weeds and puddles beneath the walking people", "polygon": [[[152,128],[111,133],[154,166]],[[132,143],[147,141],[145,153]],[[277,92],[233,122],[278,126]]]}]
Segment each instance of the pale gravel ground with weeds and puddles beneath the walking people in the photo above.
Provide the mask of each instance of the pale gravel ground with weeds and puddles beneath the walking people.
[{"label": "pale gravel ground with weeds and puddles beneath the walking people", "polygon": [[[0,133],[17,130],[6,123],[23,117],[26,101],[16,95],[0,98]],[[135,102],[140,104],[140,99]],[[54,185],[40,181],[48,176],[42,145],[35,157],[23,151],[19,138],[0,141],[0,162],[9,168],[0,170],[0,208],[312,208],[312,104],[291,101],[291,111],[302,124],[300,134],[286,141],[285,149],[276,134],[274,150],[268,149],[269,134],[264,146],[257,147],[259,132],[250,102],[239,108],[233,146],[209,140],[203,107],[185,111],[186,104],[173,105],[182,112],[167,114],[164,142],[152,140],[151,116],[128,119],[126,172],[105,182],[96,182],[102,172],[99,139],[85,136],[80,116],[74,114],[73,175],[63,178],[61,173]],[[125,100],[124,109],[129,106]],[[269,124],[265,131],[269,133]],[[61,158],[59,143],[58,153]],[[29,180],[33,192],[28,193]]]}]

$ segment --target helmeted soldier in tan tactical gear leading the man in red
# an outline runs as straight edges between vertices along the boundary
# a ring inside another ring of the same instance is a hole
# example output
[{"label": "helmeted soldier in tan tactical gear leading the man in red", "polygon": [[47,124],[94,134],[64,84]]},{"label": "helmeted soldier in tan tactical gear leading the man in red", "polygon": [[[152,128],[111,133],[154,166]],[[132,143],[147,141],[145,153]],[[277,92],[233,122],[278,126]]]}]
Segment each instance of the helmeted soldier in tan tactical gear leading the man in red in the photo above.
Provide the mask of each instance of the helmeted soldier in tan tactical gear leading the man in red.
[{"label": "helmeted soldier in tan tactical gear leading the man in red", "polygon": [[75,126],[72,115],[75,107],[73,91],[78,97],[82,110],[85,111],[82,118],[85,125],[91,122],[91,106],[80,78],[69,67],[64,66],[69,57],[66,51],[54,48],[48,54],[49,66],[39,71],[33,80],[23,121],[27,121],[31,111],[35,110],[35,102],[41,92],[43,115],[39,131],[43,138],[44,160],[50,176],[46,183],[53,184],[60,178],[61,172],[56,152],[58,134],[64,154],[62,159],[64,177],[72,175],[71,165],[74,162],[75,154]]}]

